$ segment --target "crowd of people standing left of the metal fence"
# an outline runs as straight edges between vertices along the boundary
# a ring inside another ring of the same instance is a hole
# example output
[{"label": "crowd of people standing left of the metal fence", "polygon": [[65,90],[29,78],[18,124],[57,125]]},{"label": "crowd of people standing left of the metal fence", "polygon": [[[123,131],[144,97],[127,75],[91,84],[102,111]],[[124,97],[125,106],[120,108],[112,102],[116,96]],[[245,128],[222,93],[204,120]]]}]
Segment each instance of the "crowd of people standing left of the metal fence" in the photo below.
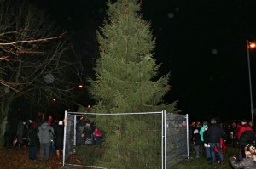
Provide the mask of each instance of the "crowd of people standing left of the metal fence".
[{"label": "crowd of people standing left of the metal fence", "polygon": [[39,159],[42,161],[48,161],[49,156],[54,154],[60,158],[64,138],[63,121],[53,121],[50,115],[48,119],[41,122],[19,121],[13,141],[11,141],[8,128],[4,138],[4,147],[28,149],[28,158],[32,161],[38,159],[38,149]]}]

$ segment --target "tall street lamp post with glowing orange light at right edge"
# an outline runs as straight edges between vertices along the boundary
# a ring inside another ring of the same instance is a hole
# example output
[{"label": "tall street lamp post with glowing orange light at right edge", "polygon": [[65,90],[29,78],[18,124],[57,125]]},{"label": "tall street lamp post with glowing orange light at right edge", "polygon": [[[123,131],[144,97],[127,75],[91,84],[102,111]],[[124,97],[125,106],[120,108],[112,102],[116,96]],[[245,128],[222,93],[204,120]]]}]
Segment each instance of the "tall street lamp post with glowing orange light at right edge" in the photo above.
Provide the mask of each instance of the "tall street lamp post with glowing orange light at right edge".
[{"label": "tall street lamp post with glowing orange light at right edge", "polygon": [[252,115],[252,122],[254,124],[254,119],[253,119],[253,89],[252,89],[252,80],[251,80],[251,67],[250,67],[250,48],[255,48],[256,44],[253,42],[249,42],[247,40],[247,60],[248,60],[248,73],[249,73],[249,85],[250,85],[250,101],[251,101],[251,115]]}]

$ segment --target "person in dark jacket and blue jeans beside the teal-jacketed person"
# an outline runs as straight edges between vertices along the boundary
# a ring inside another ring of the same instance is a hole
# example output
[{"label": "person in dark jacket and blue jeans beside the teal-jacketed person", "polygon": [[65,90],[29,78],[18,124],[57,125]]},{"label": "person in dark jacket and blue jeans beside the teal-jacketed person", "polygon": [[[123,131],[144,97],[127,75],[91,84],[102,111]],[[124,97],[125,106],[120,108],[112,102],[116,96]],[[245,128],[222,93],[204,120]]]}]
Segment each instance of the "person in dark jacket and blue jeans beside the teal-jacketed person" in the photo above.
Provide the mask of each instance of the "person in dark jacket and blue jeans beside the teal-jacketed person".
[{"label": "person in dark jacket and blue jeans beside the teal-jacketed person", "polygon": [[225,140],[225,132],[216,123],[217,123],[216,119],[212,118],[211,125],[208,127],[207,137],[208,137],[208,142],[210,144],[210,149],[211,149],[212,164],[216,163],[215,150],[214,150],[215,146],[218,149],[218,157],[219,157],[220,163],[223,164],[224,157],[220,148],[220,139],[223,138]]}]

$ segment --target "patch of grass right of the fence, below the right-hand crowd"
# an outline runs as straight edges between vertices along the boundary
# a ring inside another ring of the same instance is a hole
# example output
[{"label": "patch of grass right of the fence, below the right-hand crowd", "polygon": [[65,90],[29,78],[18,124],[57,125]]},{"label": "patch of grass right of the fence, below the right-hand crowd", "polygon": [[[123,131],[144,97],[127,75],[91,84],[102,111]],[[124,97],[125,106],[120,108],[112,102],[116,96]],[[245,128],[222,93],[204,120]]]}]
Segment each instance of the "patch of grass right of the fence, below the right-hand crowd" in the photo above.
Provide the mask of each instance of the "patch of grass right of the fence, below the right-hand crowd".
[{"label": "patch of grass right of the fence, below the right-hand crowd", "polygon": [[238,152],[239,152],[239,148],[237,146],[233,147],[233,145],[228,145],[224,155],[224,164],[211,165],[211,164],[208,164],[207,159],[205,157],[202,157],[202,151],[201,151],[201,157],[195,158],[195,150],[192,148],[191,157],[189,159],[182,161],[177,166],[173,167],[173,169],[207,169],[207,168],[230,169],[232,167],[230,166],[229,159],[231,156],[234,156],[234,155],[237,156]]}]

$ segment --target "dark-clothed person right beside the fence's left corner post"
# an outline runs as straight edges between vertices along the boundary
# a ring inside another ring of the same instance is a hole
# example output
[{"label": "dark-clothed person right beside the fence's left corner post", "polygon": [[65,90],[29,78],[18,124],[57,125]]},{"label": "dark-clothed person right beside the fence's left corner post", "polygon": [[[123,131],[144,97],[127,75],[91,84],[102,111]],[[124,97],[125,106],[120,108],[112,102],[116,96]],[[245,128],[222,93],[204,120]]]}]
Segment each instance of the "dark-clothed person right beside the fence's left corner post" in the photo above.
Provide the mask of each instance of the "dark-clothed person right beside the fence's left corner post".
[{"label": "dark-clothed person right beside the fence's left corner post", "polygon": [[59,124],[55,127],[55,150],[58,158],[60,158],[61,152],[63,150],[63,138],[64,138],[63,121],[59,121]]}]

